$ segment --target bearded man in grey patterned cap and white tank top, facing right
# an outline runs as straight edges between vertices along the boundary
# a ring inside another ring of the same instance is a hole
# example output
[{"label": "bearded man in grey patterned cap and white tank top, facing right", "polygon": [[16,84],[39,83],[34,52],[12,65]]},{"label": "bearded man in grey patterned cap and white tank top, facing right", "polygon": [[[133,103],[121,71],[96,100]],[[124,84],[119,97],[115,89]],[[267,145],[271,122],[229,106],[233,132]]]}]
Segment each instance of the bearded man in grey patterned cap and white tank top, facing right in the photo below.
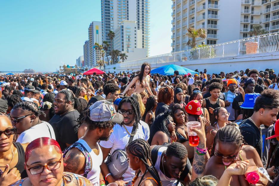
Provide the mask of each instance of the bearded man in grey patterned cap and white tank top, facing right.
[{"label": "bearded man in grey patterned cap and white tank top, facing right", "polygon": [[98,141],[109,139],[114,124],[122,123],[123,115],[116,112],[112,103],[101,100],[85,111],[81,121],[87,124],[87,131],[65,150],[65,171],[85,176],[93,185],[99,186],[105,181],[100,176],[103,153]]}]

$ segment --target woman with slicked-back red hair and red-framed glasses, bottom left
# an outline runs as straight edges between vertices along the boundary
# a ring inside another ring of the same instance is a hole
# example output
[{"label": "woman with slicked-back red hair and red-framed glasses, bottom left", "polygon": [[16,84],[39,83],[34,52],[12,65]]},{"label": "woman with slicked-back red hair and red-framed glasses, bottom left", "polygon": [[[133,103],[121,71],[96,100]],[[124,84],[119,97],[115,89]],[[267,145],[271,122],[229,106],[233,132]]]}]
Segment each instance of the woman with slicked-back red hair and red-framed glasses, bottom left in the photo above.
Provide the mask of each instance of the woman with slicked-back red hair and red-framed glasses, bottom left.
[{"label": "woman with slicked-back red hair and red-framed glasses, bottom left", "polygon": [[[27,145],[25,169],[28,177],[12,186],[87,186],[92,183],[83,176],[63,172],[62,151],[57,141],[48,137],[35,139]],[[62,165],[62,166],[61,166]]]}]

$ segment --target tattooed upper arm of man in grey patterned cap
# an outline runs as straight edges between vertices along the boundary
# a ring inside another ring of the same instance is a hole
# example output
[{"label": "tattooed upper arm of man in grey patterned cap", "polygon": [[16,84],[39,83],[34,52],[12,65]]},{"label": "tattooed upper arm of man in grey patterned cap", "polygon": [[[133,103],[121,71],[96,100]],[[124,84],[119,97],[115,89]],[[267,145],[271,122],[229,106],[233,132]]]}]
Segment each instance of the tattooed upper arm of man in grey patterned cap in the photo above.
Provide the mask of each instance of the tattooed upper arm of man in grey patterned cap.
[{"label": "tattooed upper arm of man in grey patterned cap", "polygon": [[64,160],[64,171],[78,174],[79,165],[80,159],[78,154],[70,153]]}]

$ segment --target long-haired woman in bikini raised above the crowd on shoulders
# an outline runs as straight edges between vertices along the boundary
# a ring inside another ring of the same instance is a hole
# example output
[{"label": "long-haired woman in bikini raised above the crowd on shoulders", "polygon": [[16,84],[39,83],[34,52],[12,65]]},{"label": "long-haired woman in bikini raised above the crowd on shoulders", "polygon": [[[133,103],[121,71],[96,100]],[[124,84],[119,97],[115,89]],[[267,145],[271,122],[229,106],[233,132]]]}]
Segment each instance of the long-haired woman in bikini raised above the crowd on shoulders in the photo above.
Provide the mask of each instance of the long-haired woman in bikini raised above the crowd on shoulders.
[{"label": "long-haired woman in bikini raised above the crowd on shoulders", "polygon": [[134,93],[141,93],[147,89],[148,93],[152,96],[154,96],[153,92],[151,91],[149,81],[150,81],[150,70],[151,67],[148,63],[143,63],[140,69],[140,72],[138,75],[136,75],[130,84],[126,87],[126,89],[121,93],[124,95],[130,88],[136,84],[136,88],[134,90]]}]

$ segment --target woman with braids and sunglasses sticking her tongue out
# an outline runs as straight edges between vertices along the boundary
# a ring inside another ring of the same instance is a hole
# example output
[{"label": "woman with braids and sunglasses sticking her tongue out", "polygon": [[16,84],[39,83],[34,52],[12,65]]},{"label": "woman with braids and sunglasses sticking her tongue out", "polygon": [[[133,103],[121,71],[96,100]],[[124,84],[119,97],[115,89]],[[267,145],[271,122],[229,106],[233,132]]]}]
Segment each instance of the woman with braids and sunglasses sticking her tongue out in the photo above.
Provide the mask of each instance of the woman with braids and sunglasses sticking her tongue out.
[{"label": "woman with braids and sunglasses sticking her tongue out", "polygon": [[[233,163],[249,160],[249,166],[263,167],[256,149],[244,145],[240,131],[234,125],[227,125],[218,130],[204,175],[212,175],[220,179],[224,171]],[[233,175],[230,185],[249,185],[244,175]]]}]

